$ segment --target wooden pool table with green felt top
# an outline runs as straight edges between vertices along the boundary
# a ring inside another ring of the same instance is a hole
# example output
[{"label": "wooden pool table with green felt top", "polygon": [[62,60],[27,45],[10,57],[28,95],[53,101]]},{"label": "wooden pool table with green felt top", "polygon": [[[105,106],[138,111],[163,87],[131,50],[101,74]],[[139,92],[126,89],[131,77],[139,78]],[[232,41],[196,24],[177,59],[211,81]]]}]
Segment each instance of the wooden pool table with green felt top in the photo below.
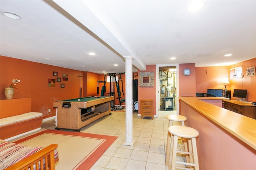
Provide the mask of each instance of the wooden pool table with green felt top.
[{"label": "wooden pool table with green felt top", "polygon": [[53,107],[57,107],[56,129],[80,131],[82,127],[110,113],[114,96],[79,99],[80,101],[76,98],[53,102]]}]

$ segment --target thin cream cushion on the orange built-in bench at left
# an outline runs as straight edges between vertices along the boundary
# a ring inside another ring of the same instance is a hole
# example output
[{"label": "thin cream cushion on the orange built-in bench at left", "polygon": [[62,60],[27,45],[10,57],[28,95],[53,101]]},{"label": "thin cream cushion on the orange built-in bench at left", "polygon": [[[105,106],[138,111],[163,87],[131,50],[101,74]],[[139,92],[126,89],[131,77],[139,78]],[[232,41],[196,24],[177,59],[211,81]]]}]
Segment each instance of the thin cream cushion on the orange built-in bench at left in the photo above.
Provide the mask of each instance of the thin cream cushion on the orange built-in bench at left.
[{"label": "thin cream cushion on the orange built-in bench at left", "polygon": [[43,113],[39,113],[39,112],[28,112],[28,113],[24,113],[24,114],[21,114],[21,115],[5,117],[5,118],[0,119],[0,127],[4,126],[4,125],[9,125],[9,124],[12,124],[12,123],[32,119],[32,118],[35,118],[35,117],[40,117],[42,115],[43,115]]}]

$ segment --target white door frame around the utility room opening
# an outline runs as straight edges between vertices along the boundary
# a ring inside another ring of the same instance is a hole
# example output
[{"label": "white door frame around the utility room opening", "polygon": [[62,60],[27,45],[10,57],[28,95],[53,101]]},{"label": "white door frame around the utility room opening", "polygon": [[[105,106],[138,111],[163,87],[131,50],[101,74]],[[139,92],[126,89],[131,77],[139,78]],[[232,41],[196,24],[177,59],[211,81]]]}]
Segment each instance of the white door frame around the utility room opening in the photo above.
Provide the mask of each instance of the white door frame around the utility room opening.
[{"label": "white door frame around the utility room opening", "polygon": [[179,96],[179,64],[156,64],[156,117],[158,117],[158,111],[159,111],[159,98],[160,98],[160,86],[159,86],[159,67],[171,67],[176,66],[176,112],[177,115],[180,113],[179,108],[179,102],[178,102],[178,96]]}]

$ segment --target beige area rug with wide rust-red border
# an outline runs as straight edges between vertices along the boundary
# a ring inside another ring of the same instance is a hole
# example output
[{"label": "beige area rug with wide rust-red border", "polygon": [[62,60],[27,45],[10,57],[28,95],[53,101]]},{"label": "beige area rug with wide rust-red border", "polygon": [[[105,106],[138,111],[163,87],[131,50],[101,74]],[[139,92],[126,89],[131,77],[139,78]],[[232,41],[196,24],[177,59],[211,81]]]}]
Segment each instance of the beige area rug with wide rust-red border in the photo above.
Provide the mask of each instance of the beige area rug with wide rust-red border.
[{"label": "beige area rug with wide rust-red border", "polygon": [[73,131],[45,130],[14,143],[31,147],[58,144],[56,170],[89,170],[117,139],[114,136]]}]

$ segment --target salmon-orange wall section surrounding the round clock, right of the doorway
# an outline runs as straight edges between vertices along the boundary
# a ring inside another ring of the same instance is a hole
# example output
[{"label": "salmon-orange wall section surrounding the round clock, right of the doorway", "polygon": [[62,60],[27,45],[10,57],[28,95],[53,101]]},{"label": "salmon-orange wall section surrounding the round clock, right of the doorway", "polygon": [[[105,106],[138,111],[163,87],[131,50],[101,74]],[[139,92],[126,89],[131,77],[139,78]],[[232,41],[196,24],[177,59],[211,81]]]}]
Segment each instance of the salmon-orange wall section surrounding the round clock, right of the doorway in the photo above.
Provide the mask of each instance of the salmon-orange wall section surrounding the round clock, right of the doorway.
[{"label": "salmon-orange wall section surrounding the round clock, right of the doorway", "polygon": [[[183,70],[189,68],[191,74],[185,76]],[[196,96],[196,69],[195,63],[179,64],[179,96]]]}]

